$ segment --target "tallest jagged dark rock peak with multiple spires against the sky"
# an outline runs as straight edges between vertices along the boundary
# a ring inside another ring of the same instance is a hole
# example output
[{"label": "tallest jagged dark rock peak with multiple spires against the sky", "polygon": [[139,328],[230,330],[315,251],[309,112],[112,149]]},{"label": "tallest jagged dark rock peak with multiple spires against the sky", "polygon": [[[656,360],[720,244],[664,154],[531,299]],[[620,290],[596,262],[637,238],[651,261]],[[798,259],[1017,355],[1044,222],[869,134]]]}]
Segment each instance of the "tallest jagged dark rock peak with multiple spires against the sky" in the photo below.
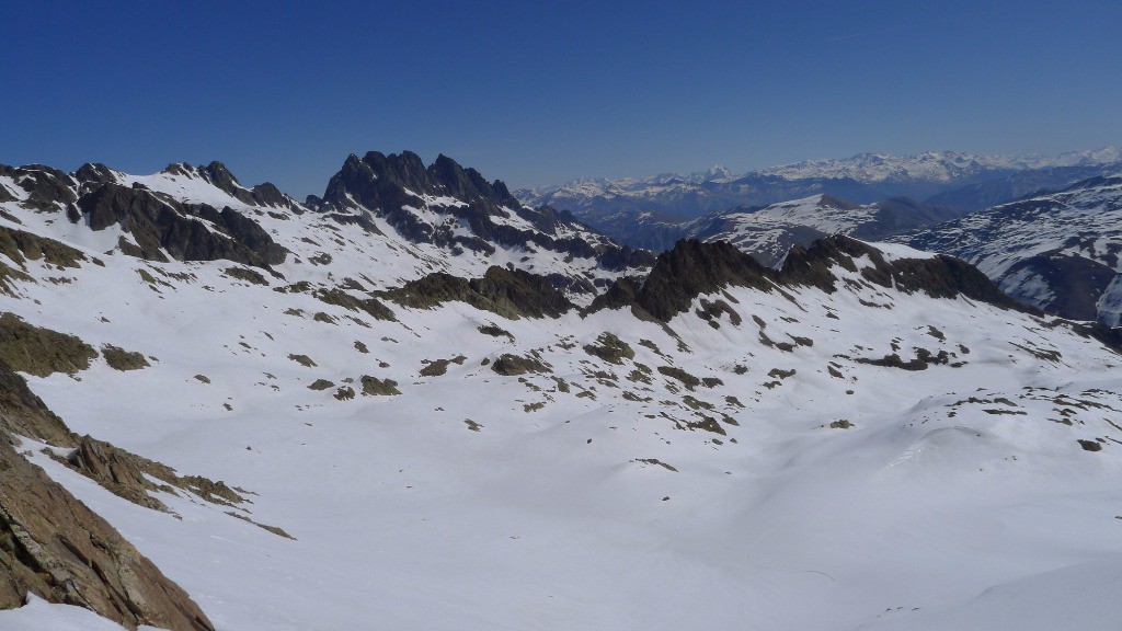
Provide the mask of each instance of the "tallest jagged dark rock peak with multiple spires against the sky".
[{"label": "tallest jagged dark rock peak with multiple spires against the sky", "polygon": [[[454,199],[457,203],[439,205],[450,222],[433,226],[410,211],[410,205],[423,205],[425,198]],[[430,166],[411,152],[384,155],[370,152],[362,158],[351,155],[328,183],[323,199],[309,198],[309,203],[325,212],[339,212],[356,203],[383,214],[405,238],[438,246],[471,249],[485,254],[504,247],[534,247],[595,258],[601,267],[624,269],[653,262],[650,253],[633,250],[607,239],[590,239],[589,234],[571,214],[550,207],[531,210],[523,207],[506,184],[488,182],[473,168],[463,168],[452,158],[441,155]],[[457,222],[466,223],[472,235],[456,231]],[[522,226],[528,223],[534,229]],[[583,232],[583,236],[578,235]]]}]

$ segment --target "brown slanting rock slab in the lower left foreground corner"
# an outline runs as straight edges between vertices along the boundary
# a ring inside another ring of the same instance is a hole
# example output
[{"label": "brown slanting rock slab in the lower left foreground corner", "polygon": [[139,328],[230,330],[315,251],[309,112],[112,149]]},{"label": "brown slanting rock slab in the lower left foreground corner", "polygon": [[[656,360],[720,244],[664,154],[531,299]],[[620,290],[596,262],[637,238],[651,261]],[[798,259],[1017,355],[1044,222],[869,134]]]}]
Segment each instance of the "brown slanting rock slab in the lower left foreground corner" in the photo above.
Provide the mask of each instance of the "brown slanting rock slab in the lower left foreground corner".
[{"label": "brown slanting rock slab in the lower left foreground corner", "polygon": [[210,631],[190,596],[109,523],[19,455],[12,432],[55,445],[74,437],[0,362],[0,609],[28,593],[130,629]]}]

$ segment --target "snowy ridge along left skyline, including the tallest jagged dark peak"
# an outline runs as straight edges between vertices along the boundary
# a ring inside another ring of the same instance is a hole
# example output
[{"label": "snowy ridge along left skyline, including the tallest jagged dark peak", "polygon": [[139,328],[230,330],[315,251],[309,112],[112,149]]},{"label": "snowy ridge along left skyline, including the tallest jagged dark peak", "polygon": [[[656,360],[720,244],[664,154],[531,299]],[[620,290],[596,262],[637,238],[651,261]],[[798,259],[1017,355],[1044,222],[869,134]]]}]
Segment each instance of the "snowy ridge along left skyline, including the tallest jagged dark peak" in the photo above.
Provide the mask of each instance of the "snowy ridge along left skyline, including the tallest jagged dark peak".
[{"label": "snowy ridge along left skyline, including the tallest jagged dark peak", "polygon": [[73,175],[38,165],[0,167],[3,199],[43,210],[33,225],[54,223],[49,211],[62,212],[71,223],[66,235],[107,254],[270,266],[303,250],[323,280],[343,267],[392,271],[367,278],[373,287],[438,271],[482,275],[498,265],[546,276],[587,302],[597,286],[654,262],[567,213],[522,205],[502,182],[488,183],[451,158],[425,167],[410,152],[350,156],[324,199],[305,204],[272,184],[243,189],[220,163],[173,164],[146,176],[104,165]]}]

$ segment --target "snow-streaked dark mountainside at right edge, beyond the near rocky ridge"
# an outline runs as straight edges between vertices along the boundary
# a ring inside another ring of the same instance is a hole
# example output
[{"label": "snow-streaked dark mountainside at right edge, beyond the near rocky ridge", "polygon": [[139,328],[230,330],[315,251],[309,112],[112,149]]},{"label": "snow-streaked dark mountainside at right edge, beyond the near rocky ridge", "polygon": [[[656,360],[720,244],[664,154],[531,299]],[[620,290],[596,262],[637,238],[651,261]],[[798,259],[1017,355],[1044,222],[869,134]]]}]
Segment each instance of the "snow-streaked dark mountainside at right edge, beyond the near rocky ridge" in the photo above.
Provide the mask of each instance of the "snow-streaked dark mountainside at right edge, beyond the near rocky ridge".
[{"label": "snow-streaked dark mountainside at right edge, beyond the near rocky ridge", "polygon": [[1095,177],[893,240],[967,259],[1041,309],[1119,326],[1120,212],[1122,176]]}]

